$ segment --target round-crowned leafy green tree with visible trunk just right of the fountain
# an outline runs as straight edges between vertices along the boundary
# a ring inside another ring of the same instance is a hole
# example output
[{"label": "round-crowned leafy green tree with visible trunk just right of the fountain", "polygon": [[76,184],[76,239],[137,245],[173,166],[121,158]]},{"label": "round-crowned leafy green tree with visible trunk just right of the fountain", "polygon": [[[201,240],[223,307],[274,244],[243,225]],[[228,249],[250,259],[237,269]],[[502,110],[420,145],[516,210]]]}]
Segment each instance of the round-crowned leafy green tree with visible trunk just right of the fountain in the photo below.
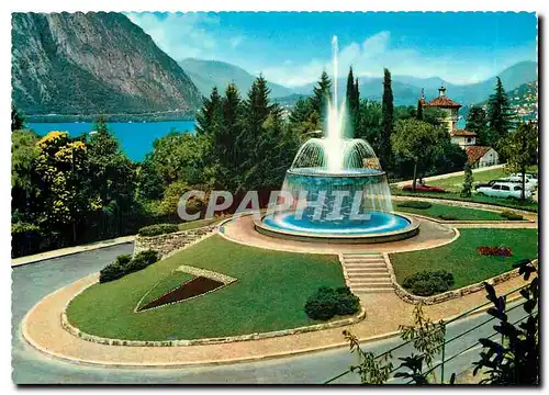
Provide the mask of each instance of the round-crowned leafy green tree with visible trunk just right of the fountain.
[{"label": "round-crowned leafy green tree with visible trunk just right of the fountain", "polygon": [[418,170],[422,171],[438,156],[441,150],[438,143],[444,138],[444,135],[445,131],[441,127],[434,127],[423,121],[415,119],[396,121],[391,143],[397,155],[414,163],[414,192]]}]

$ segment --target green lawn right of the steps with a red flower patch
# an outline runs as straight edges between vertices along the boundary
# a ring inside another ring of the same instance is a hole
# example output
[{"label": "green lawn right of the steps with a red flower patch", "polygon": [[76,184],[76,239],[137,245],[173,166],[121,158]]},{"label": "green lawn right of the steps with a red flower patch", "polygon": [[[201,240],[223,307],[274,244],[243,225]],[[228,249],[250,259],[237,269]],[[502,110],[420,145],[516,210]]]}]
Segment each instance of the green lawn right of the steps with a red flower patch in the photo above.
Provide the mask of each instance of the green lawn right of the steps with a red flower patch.
[{"label": "green lawn right of the steps with a red flower patch", "polygon": [[[478,283],[512,269],[520,259],[538,256],[537,229],[460,229],[460,237],[442,247],[428,250],[391,253],[396,281],[416,272],[447,270],[453,274],[452,289]],[[513,256],[485,257],[477,248],[480,246],[509,247]]]}]

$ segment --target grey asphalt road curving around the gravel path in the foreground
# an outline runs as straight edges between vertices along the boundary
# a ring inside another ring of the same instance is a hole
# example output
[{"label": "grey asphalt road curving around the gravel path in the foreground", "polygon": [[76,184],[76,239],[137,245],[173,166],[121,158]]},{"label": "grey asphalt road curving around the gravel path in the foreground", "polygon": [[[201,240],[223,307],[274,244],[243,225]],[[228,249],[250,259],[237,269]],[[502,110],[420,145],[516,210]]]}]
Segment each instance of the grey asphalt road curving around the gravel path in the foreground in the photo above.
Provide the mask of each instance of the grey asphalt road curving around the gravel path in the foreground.
[{"label": "grey asphalt road curving around the gravel path in the foreground", "polygon": [[[114,257],[132,251],[132,245],[120,245],[100,250],[67,256],[38,263],[14,268],[12,272],[12,368],[15,384],[320,384],[336,376],[357,362],[347,348],[321,351],[298,357],[238,363],[232,365],[181,368],[181,369],[131,369],[100,368],[72,364],[47,357],[31,346],[21,336],[20,325],[24,315],[45,295],[87,274],[99,271]],[[511,314],[512,319],[522,317],[522,308]],[[468,328],[481,324],[486,315],[477,315],[447,329],[447,339]],[[473,345],[477,339],[492,334],[495,323],[482,325],[478,330],[447,346],[446,358]],[[397,343],[400,339],[386,339],[363,346],[365,350],[381,353]],[[403,347],[393,353],[395,365],[399,357],[410,356],[411,347]],[[417,352],[416,352],[417,353]],[[470,369],[479,359],[479,349],[473,349],[447,363],[445,377]],[[437,373],[440,377],[440,372]],[[351,373],[334,383],[359,383]],[[402,383],[392,380],[391,383]]]}]

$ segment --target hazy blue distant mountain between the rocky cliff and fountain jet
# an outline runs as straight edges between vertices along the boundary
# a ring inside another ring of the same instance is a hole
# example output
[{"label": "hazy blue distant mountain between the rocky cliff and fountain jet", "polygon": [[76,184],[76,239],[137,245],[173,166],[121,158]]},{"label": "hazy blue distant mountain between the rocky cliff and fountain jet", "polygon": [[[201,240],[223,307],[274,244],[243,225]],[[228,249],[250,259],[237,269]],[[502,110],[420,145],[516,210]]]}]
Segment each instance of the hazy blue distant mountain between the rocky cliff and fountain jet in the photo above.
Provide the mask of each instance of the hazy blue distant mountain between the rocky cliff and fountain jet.
[{"label": "hazy blue distant mountain between the rocky cliff and fountain jet", "polygon": [[[179,65],[205,97],[210,95],[213,87],[217,87],[220,92],[225,91],[229,82],[236,83],[240,94],[244,95],[256,78],[243,68],[225,61],[188,58],[179,61]],[[269,79],[269,76],[266,78]],[[281,98],[293,93],[290,88],[277,83],[268,82],[268,86],[271,89],[271,98]]]}]

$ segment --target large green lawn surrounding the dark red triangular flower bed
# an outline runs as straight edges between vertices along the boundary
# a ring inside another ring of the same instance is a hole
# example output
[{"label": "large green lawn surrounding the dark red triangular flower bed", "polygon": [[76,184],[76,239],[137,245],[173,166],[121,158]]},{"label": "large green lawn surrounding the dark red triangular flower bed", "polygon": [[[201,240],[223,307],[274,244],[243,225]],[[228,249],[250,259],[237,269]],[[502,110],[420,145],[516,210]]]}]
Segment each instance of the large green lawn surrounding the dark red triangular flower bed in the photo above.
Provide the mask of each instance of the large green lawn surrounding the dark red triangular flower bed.
[{"label": "large green lawn surrounding the dark red triangular flower bed", "polygon": [[[141,313],[142,296],[181,264],[237,279],[210,294]],[[96,284],[68,307],[70,323],[119,339],[169,340],[270,331],[314,324],[303,311],[320,286],[345,284],[336,256],[278,252],[212,236],[150,267]]]}]

